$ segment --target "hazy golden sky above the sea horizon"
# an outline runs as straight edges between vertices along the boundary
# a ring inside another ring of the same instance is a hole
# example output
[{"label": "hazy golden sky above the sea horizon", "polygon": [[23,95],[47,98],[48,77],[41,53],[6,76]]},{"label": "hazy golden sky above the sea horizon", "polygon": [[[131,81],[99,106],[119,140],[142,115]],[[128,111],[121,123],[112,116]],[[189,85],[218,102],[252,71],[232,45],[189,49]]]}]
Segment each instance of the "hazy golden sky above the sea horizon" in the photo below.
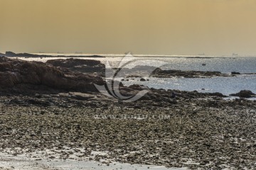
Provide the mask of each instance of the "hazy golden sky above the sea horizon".
[{"label": "hazy golden sky above the sea horizon", "polygon": [[256,55],[256,0],[0,0],[0,52]]}]

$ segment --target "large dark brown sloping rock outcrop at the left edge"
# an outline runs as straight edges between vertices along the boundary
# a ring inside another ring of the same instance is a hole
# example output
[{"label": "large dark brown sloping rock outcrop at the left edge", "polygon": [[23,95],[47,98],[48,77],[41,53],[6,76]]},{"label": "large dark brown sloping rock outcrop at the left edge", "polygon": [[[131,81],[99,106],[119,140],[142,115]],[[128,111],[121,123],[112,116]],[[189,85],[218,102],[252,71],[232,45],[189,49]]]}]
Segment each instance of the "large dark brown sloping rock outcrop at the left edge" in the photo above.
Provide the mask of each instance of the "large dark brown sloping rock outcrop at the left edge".
[{"label": "large dark brown sloping rock outcrop at the left edge", "polygon": [[20,84],[43,85],[68,91],[97,91],[94,84],[102,85],[105,82],[97,75],[63,72],[43,62],[26,62],[1,57],[0,88],[6,89]]}]

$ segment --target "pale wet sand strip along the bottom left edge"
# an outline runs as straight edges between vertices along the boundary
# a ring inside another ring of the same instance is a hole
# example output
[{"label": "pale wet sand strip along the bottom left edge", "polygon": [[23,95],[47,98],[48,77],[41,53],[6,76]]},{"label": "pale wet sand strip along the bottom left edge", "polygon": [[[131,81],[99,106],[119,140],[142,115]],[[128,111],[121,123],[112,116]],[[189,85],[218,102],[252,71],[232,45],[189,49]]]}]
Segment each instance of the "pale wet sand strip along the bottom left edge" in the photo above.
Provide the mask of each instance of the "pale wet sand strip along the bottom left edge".
[{"label": "pale wet sand strip along the bottom left edge", "polygon": [[[46,151],[49,152],[49,151]],[[54,154],[55,156],[57,154]],[[33,158],[31,158],[33,157]],[[40,157],[40,158],[35,158]],[[122,164],[118,162],[113,162],[110,164],[105,164],[104,160],[101,162],[90,161],[87,159],[49,159],[44,157],[42,154],[30,153],[30,154],[21,154],[14,156],[12,154],[0,153],[0,169],[1,170],[11,170],[11,169],[20,169],[20,170],[43,170],[43,169],[86,169],[86,170],[95,170],[95,169],[152,169],[152,170],[186,170],[186,168],[166,168],[165,166],[154,166],[154,165],[142,165],[142,164]]]}]

